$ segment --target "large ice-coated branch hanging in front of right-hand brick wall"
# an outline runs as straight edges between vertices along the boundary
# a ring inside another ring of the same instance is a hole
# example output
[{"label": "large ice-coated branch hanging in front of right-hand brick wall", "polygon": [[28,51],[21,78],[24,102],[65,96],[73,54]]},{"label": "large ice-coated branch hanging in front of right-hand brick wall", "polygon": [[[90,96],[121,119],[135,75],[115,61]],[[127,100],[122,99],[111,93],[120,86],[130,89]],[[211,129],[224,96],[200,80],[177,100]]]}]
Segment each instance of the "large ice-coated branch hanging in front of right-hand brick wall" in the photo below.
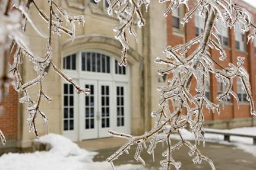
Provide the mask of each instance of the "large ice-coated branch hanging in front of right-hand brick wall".
[{"label": "large ice-coated branch hanging in front of right-hand brick wall", "polygon": [[[181,4],[188,4],[188,1],[182,0],[160,0],[159,2],[169,2],[164,15],[168,15],[173,9],[179,8]],[[147,148],[144,146],[146,145],[146,140],[150,140],[147,152],[153,157],[157,143],[166,143],[166,150],[162,153],[165,159],[160,161],[163,169],[169,170],[171,166],[175,166],[176,169],[181,168],[181,162],[175,161],[172,151],[179,149],[183,145],[190,149],[189,156],[194,156],[192,159],[194,163],[200,164],[202,161],[206,161],[211,166],[211,169],[215,169],[213,161],[202,155],[198,149],[200,142],[205,143],[203,137],[203,108],[206,107],[208,110],[216,111],[217,114],[220,114],[220,105],[225,105],[225,102],[230,99],[230,95],[239,102],[238,96],[232,91],[235,78],[241,78],[251,107],[251,114],[255,115],[249,75],[242,66],[245,59],[238,57],[236,65],[229,63],[227,67],[222,66],[222,61],[226,59],[227,54],[220,44],[216,29],[218,22],[225,22],[227,28],[241,25],[242,31],[255,29],[254,24],[251,23],[249,13],[233,4],[232,1],[198,0],[194,7],[185,14],[181,22],[183,24],[188,23],[195,12],[198,12],[204,18],[203,32],[187,43],[179,44],[175,47],[167,46],[163,52],[166,57],[157,57],[155,60],[157,63],[166,66],[159,70],[159,75],[167,74],[169,79],[168,85],[157,88],[160,91],[161,99],[159,101],[159,109],[151,113],[152,117],[156,117],[153,128],[141,136],[131,136],[110,131],[113,136],[124,137],[128,140],[107,159],[112,165],[113,161],[118,159],[119,156],[123,153],[128,153],[128,150],[133,145],[137,147],[134,155],[135,160],[144,165],[145,162],[141,158],[141,152],[143,152],[144,148]],[[253,38],[255,33],[250,36]],[[188,53],[188,49],[191,46],[197,47],[191,53]],[[210,48],[219,50],[219,60],[215,60],[211,56]],[[206,95],[207,88],[210,85],[210,73],[215,75],[217,81],[225,85],[222,94],[217,96],[219,103],[214,103]],[[193,78],[197,81],[196,86],[191,86]],[[193,89],[197,94],[193,93]],[[181,114],[184,108],[187,113]],[[195,145],[183,139],[180,130],[185,127],[194,134]],[[173,133],[178,133],[181,137],[181,141],[176,144],[170,142],[170,137]]]}]

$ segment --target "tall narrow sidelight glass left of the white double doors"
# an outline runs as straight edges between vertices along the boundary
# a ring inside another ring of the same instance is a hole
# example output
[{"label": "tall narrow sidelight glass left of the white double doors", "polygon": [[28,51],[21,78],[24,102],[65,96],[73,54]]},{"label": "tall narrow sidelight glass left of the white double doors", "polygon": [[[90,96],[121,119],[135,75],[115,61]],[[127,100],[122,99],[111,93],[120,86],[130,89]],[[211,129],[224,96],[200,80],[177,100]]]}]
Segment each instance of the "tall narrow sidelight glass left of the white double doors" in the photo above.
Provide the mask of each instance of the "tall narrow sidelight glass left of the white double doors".
[{"label": "tall narrow sidelight glass left of the white double doors", "polygon": [[64,130],[74,130],[74,87],[64,84]]}]

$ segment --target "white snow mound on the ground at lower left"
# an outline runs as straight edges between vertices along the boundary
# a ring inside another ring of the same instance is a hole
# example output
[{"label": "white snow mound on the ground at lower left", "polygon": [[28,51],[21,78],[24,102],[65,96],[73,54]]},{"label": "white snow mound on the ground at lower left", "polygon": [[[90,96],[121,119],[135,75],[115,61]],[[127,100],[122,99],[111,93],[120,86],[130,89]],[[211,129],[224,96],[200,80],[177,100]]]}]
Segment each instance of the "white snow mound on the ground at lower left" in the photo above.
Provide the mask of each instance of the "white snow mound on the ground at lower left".
[{"label": "white snow mound on the ground at lower left", "polygon": [[[59,134],[42,136],[40,142],[49,143],[52,146],[48,152],[34,153],[6,153],[0,157],[1,170],[105,170],[112,169],[108,162],[93,162],[97,152],[89,152],[81,149]],[[115,169],[137,170],[143,169],[142,165],[121,165]]]}]

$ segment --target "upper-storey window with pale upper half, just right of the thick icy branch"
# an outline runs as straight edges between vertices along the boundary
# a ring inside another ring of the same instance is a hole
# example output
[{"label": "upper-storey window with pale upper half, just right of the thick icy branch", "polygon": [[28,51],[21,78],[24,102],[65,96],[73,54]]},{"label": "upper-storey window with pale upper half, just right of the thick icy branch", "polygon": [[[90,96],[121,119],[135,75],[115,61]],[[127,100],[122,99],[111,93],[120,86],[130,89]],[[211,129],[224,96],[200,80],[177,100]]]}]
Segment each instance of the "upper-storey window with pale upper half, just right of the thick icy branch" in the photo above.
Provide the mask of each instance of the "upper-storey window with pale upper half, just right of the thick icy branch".
[{"label": "upper-storey window with pale upper half, just right of the thick icy branch", "polygon": [[220,43],[222,43],[223,46],[229,47],[229,31],[225,24],[222,23],[222,21],[217,21],[216,27],[219,31],[218,37],[220,39]]}]

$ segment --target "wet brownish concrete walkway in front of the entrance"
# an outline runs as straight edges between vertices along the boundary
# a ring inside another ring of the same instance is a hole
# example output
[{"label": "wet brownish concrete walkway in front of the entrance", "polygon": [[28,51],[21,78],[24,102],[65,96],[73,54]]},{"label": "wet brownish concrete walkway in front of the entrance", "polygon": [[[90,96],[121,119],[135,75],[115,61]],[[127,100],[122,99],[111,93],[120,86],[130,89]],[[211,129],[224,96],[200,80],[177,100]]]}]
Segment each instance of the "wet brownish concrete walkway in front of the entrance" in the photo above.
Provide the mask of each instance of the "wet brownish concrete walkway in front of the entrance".
[{"label": "wet brownish concrete walkway in front of the entrance", "polygon": [[[116,146],[121,146],[125,141],[126,140],[124,139],[117,139],[112,137],[78,142],[78,145],[88,150],[97,150],[99,154],[94,157],[94,161],[105,161],[108,156],[118,150],[119,147]],[[173,143],[176,142],[174,140],[172,141]],[[126,163],[140,164],[139,162],[134,161],[135,149],[135,147],[132,147],[129,151],[129,155],[124,154],[120,156],[119,159],[114,162],[115,165],[122,165]],[[218,170],[256,169],[256,158],[241,149],[237,149],[235,146],[219,145],[217,143],[206,143],[206,147],[201,147],[200,151],[202,154],[213,160],[214,165]],[[159,169],[159,162],[163,159],[161,155],[162,152],[162,145],[159,144],[154,152],[155,162],[153,162],[152,156],[148,155],[147,151],[144,150],[142,158],[146,161],[146,169]],[[188,148],[185,146],[173,152],[173,158],[182,162],[181,169],[184,170],[211,169],[206,162],[203,162],[201,165],[194,165],[192,158],[188,156]],[[173,167],[172,169],[175,168]]]}]

